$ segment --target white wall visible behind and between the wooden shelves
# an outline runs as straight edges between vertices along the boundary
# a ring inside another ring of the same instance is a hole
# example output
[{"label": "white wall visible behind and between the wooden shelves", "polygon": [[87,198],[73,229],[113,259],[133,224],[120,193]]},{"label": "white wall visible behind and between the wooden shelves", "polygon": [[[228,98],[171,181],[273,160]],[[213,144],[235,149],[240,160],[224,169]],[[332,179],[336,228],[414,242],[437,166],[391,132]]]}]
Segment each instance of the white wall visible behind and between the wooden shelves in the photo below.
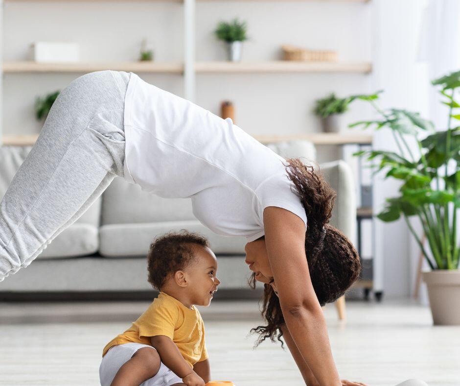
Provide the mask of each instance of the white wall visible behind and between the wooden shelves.
[{"label": "white wall visible behind and between the wooden shelves", "polygon": [[[141,39],[151,39],[158,61],[183,58],[183,5],[150,2],[7,2],[4,59],[24,60],[36,40],[68,40],[81,46],[83,61],[131,61],[138,57]],[[245,60],[270,60],[284,43],[337,49],[341,60],[370,61],[371,6],[340,2],[203,1],[196,7],[196,58],[225,58],[212,31],[220,20],[238,16],[248,22],[251,40]],[[180,75],[140,74],[145,80],[183,95]],[[33,101],[65,87],[78,74],[6,74],[4,77],[4,134],[38,132]],[[310,114],[315,98],[369,90],[365,74],[201,74],[197,98],[219,114],[220,102],[232,99],[236,123],[250,133],[318,131]],[[361,118],[350,114],[348,121]]]}]

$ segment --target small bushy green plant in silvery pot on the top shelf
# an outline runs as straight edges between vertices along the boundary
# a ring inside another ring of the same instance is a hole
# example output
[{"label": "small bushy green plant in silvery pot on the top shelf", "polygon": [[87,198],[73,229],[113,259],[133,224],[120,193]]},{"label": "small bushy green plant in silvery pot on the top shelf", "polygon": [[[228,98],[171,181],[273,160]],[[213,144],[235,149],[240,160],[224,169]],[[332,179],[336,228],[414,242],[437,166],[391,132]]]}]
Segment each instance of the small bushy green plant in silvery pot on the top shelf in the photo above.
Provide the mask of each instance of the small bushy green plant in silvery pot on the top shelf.
[{"label": "small bushy green plant in silvery pot on the top shelf", "polygon": [[234,19],[232,22],[220,22],[214,33],[217,39],[227,44],[228,58],[232,62],[241,61],[243,42],[248,40],[246,22]]}]

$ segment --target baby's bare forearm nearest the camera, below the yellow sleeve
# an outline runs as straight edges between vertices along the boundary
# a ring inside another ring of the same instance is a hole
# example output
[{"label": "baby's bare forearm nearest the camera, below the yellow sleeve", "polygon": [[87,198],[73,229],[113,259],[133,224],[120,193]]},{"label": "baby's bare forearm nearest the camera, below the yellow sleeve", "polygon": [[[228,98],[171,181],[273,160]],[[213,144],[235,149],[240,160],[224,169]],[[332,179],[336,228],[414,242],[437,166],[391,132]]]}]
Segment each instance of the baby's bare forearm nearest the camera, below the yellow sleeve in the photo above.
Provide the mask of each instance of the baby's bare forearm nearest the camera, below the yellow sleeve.
[{"label": "baby's bare forearm nearest the camera, below the yellow sleeve", "polygon": [[185,362],[179,348],[171,338],[165,337],[164,335],[157,335],[155,337],[150,337],[150,342],[160,354],[161,362],[179,378],[184,379],[185,376],[195,373],[195,371],[190,368],[190,365]]}]

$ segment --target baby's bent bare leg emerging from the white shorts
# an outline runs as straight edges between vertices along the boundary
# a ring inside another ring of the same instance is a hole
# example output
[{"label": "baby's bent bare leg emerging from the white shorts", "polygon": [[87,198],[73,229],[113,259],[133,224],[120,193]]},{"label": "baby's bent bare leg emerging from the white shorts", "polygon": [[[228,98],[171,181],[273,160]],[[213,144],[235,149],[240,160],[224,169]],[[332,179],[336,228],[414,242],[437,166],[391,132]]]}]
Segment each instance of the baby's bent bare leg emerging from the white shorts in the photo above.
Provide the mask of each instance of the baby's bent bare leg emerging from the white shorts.
[{"label": "baby's bent bare leg emerging from the white shorts", "polygon": [[157,375],[161,360],[153,347],[143,347],[117,371],[111,386],[138,386]]}]

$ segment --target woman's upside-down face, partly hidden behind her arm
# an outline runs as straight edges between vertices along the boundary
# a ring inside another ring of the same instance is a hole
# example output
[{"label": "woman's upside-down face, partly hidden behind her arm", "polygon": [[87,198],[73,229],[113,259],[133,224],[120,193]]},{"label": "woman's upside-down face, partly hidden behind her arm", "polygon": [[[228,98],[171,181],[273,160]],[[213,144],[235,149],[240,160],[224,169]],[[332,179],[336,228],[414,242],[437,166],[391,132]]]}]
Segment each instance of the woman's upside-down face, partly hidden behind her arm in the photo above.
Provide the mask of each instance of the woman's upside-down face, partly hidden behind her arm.
[{"label": "woman's upside-down face, partly hidden behind her arm", "polygon": [[255,280],[261,283],[270,284],[277,294],[278,291],[273,280],[265,239],[248,242],[244,247],[244,251],[246,252],[245,263],[249,265],[249,269],[255,272]]}]

